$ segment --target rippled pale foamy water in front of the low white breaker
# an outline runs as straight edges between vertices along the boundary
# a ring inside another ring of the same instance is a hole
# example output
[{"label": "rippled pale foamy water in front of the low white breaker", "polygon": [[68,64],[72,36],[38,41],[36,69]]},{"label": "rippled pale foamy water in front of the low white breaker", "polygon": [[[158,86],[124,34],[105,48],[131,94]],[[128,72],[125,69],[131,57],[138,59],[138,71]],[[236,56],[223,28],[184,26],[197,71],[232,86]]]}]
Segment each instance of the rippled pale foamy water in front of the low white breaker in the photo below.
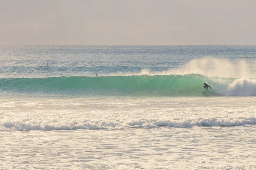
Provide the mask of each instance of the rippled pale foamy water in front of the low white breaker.
[{"label": "rippled pale foamy water in front of the low white breaker", "polygon": [[0,132],[0,167],[254,169],[256,126]]}]

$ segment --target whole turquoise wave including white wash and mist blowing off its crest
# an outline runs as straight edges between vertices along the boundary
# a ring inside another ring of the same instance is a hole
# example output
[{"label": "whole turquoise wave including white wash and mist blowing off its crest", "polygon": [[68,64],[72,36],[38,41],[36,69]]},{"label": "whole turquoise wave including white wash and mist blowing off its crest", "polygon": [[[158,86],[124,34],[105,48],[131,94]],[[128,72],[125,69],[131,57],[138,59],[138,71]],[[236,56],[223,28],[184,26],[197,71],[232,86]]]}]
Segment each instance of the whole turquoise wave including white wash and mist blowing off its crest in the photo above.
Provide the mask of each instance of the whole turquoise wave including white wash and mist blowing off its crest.
[{"label": "whole turquoise wave including white wash and mist blowing off its crest", "polygon": [[[167,71],[100,77],[2,78],[0,95],[25,96],[256,96],[255,64],[205,57]],[[214,88],[202,93],[203,83]]]}]

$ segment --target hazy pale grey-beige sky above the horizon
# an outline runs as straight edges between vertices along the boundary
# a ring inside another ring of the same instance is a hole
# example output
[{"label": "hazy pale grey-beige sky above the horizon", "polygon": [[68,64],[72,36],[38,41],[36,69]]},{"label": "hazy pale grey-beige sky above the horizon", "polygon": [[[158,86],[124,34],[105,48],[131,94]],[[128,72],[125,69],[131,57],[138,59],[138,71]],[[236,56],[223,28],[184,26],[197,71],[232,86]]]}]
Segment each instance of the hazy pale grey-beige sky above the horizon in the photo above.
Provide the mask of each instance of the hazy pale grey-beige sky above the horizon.
[{"label": "hazy pale grey-beige sky above the horizon", "polygon": [[0,0],[0,45],[256,45],[256,0]]}]

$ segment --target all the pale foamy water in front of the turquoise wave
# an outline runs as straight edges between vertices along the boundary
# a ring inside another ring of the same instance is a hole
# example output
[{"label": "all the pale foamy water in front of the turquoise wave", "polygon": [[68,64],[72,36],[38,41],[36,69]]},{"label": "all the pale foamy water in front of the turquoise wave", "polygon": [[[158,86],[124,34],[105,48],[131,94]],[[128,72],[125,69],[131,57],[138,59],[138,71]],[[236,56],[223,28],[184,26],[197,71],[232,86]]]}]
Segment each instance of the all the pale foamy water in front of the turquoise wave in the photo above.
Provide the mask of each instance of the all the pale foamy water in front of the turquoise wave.
[{"label": "all the pale foamy water in front of the turquoise wave", "polygon": [[1,98],[0,109],[2,170],[256,168],[256,97]]}]

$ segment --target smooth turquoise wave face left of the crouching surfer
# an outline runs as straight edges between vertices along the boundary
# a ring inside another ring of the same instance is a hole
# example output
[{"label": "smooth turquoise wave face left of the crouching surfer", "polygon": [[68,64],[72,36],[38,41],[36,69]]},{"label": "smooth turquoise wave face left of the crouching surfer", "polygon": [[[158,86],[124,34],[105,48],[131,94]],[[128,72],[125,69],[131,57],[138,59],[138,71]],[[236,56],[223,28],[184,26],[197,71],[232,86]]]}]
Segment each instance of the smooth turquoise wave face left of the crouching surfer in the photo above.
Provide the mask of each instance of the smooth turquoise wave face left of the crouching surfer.
[{"label": "smooth turquoise wave face left of the crouching surfer", "polygon": [[207,77],[199,74],[14,78],[0,79],[0,91],[30,95],[202,96],[204,82]]}]

